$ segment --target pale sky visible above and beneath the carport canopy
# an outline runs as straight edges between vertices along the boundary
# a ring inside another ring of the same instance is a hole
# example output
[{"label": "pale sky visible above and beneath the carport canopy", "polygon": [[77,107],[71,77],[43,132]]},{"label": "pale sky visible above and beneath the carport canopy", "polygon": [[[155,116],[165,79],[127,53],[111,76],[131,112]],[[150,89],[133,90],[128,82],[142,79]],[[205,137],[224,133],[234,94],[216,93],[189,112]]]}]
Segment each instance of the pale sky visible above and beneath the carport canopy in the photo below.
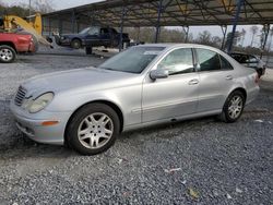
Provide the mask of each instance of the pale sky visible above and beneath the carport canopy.
[{"label": "pale sky visible above and beneath the carport canopy", "polygon": [[[9,5],[14,5],[17,3],[28,4],[29,2],[29,0],[0,0],[0,1]],[[94,2],[102,1],[102,0],[36,0],[36,1],[39,1],[40,3],[45,1],[50,1],[55,10],[62,10],[62,9],[73,8],[73,7],[83,5],[87,3],[94,3]],[[241,31],[242,28],[247,31],[244,46],[250,45],[251,43],[252,34],[250,32],[250,27],[251,25],[237,26],[237,31]],[[259,26],[259,31],[261,28],[262,26]],[[221,38],[223,37],[223,33],[219,26],[191,26],[190,27],[190,33],[192,33],[193,37],[197,37],[198,34],[203,31],[209,31],[212,34],[212,36],[218,36]],[[232,26],[228,26],[227,32],[232,32]],[[254,38],[253,46],[258,47],[260,44],[259,40],[260,40],[259,36],[257,36]]]}]

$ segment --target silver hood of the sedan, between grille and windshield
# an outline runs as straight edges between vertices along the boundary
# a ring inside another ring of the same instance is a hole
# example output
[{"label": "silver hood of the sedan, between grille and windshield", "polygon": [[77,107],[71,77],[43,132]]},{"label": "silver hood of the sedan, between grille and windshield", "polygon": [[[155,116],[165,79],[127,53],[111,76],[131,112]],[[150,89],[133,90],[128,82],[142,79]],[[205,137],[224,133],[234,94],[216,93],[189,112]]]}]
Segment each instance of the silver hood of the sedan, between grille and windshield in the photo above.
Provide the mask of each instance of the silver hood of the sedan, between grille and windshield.
[{"label": "silver hood of the sedan, between grille and windshield", "polygon": [[54,72],[29,79],[22,86],[27,91],[26,97],[38,97],[46,92],[91,92],[132,84],[138,74],[109,71],[96,68],[74,69]]}]

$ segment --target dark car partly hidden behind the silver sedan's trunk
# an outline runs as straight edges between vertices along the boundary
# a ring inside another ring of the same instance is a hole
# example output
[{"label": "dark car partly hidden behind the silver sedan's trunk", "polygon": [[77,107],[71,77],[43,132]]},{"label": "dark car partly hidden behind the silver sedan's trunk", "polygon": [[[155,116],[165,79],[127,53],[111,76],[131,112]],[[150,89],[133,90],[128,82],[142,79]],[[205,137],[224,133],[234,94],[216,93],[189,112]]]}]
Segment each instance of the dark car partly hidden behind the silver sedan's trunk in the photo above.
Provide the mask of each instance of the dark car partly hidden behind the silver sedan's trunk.
[{"label": "dark car partly hidden behind the silver sedan's trunk", "polygon": [[263,62],[257,56],[241,52],[232,52],[230,56],[245,67],[254,69],[259,77],[261,77],[265,73],[265,62]]}]

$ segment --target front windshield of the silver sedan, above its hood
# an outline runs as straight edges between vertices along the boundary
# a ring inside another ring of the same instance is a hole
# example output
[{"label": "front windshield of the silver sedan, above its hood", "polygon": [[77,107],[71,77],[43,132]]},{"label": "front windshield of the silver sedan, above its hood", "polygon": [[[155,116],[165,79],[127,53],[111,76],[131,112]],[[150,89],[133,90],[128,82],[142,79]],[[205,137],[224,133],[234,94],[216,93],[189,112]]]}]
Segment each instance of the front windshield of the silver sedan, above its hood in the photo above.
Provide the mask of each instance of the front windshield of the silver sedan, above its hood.
[{"label": "front windshield of the silver sedan, above its hood", "polygon": [[100,69],[141,73],[165,47],[132,47],[110,58]]}]

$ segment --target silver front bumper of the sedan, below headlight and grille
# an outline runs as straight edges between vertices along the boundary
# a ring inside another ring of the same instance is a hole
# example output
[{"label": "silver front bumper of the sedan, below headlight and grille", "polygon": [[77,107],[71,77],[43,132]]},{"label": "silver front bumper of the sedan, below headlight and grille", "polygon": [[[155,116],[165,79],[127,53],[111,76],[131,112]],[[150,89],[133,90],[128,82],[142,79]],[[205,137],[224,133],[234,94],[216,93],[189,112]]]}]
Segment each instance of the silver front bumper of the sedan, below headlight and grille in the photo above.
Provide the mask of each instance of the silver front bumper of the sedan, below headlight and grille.
[{"label": "silver front bumper of the sedan, below headlight and grille", "polygon": [[[35,117],[35,114],[29,114],[21,107],[15,106],[13,100],[11,101],[10,109],[19,130],[33,141],[45,144],[64,144],[64,131],[71,114],[70,112],[49,112],[43,110],[38,112],[39,117]],[[44,117],[41,118],[41,116]],[[50,120],[58,121],[59,123],[41,125],[43,122]]]}]

